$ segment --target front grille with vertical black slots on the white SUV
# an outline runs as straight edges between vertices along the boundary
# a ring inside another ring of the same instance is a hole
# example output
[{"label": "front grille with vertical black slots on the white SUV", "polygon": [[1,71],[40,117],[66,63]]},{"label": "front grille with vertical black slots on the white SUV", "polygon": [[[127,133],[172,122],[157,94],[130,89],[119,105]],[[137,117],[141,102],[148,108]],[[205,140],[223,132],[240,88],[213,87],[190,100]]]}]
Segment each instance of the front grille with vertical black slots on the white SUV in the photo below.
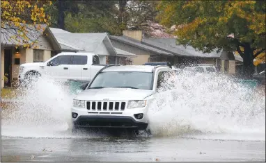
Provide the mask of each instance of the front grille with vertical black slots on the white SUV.
[{"label": "front grille with vertical black slots on the white SUV", "polygon": [[87,110],[91,111],[123,111],[126,102],[124,101],[87,101]]}]

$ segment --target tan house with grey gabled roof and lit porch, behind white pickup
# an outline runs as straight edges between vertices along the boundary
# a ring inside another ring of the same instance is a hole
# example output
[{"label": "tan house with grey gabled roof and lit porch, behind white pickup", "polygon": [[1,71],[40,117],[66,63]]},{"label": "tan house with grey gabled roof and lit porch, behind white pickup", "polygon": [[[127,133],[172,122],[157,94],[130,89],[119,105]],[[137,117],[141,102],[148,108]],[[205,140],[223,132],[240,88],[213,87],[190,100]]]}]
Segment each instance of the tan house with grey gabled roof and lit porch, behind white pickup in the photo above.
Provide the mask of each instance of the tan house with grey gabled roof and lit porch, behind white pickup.
[{"label": "tan house with grey gabled roof and lit porch, behind white pickup", "polygon": [[70,33],[49,28],[45,24],[22,25],[25,26],[24,33],[27,33],[29,43],[34,43],[29,48],[23,46],[23,38],[13,38],[18,33],[16,28],[1,28],[1,87],[4,86],[5,74],[8,75],[8,86],[15,83],[19,65],[45,62],[62,51],[96,53],[101,64],[131,65],[130,58],[136,57],[133,53],[115,48],[107,33]]}]

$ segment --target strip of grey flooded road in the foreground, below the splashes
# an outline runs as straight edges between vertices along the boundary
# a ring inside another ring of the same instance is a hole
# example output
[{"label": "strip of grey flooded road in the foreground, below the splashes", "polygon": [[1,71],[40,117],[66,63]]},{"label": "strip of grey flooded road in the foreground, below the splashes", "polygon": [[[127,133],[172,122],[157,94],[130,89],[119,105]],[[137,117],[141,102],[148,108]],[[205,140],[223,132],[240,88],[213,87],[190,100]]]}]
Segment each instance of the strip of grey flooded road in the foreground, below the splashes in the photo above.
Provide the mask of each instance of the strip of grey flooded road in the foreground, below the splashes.
[{"label": "strip of grey flooded road in the foreground, below the splashes", "polygon": [[1,162],[261,161],[265,141],[97,137],[1,139]]}]

